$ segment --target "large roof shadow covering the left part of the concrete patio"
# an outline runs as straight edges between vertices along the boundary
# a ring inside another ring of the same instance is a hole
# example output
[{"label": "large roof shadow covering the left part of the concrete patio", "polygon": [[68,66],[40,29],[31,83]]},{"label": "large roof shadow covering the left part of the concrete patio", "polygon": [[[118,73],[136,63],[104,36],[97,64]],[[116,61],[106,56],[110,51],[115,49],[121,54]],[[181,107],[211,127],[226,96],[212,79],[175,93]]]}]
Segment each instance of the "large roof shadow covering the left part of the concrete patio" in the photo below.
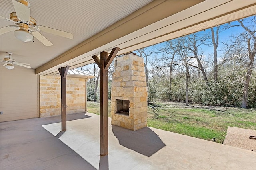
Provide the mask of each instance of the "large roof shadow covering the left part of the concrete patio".
[{"label": "large roof shadow covering the left part of the concrete patio", "polygon": [[[89,118],[68,115],[68,121]],[[60,116],[1,122],[0,169],[95,170],[74,150],[46,131],[42,125],[60,122]],[[18,160],[18,161],[17,161]]]}]

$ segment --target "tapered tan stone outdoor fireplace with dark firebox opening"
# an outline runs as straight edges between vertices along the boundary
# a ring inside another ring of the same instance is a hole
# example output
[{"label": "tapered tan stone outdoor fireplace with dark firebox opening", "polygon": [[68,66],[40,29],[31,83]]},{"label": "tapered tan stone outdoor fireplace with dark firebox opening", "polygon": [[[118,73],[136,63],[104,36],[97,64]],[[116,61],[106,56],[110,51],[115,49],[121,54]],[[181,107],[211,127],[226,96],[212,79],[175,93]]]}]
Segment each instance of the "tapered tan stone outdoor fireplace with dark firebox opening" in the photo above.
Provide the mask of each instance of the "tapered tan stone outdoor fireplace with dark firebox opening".
[{"label": "tapered tan stone outdoor fireplace with dark firebox opening", "polygon": [[118,57],[112,78],[112,125],[131,130],[147,126],[147,86],[142,57]]}]

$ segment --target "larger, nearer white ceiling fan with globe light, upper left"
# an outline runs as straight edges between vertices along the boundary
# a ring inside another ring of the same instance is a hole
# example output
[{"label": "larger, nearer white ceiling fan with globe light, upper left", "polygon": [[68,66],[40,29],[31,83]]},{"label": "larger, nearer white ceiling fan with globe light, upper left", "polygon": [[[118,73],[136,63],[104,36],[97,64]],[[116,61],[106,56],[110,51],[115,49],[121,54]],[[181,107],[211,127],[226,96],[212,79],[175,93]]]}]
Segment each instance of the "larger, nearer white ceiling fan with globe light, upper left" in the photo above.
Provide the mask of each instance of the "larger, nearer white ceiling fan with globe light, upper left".
[{"label": "larger, nearer white ceiling fan with globe light, upper left", "polygon": [[0,35],[14,31],[14,36],[23,42],[34,41],[34,37],[46,46],[53,45],[39,32],[51,33],[61,37],[73,39],[71,33],[57,29],[44,27],[36,24],[36,20],[30,16],[30,3],[26,0],[12,0],[15,12],[10,13],[10,19],[1,17],[3,20],[11,21],[16,25],[9,25],[0,29]]}]

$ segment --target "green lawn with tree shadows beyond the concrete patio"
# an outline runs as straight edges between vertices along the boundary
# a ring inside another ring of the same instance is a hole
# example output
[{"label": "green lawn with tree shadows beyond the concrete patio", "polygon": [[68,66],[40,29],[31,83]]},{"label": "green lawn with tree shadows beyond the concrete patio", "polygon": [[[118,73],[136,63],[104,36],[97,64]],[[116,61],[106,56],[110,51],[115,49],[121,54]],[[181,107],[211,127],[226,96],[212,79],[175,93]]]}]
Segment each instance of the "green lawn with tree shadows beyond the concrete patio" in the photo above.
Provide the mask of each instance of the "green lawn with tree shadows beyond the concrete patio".
[{"label": "green lawn with tree shadows beyond the concrete patio", "polygon": [[[108,116],[110,115],[110,101]],[[87,109],[99,114],[99,103],[88,102]],[[210,107],[180,102],[158,102],[148,106],[148,126],[200,139],[223,143],[228,126],[256,130],[256,109]]]}]

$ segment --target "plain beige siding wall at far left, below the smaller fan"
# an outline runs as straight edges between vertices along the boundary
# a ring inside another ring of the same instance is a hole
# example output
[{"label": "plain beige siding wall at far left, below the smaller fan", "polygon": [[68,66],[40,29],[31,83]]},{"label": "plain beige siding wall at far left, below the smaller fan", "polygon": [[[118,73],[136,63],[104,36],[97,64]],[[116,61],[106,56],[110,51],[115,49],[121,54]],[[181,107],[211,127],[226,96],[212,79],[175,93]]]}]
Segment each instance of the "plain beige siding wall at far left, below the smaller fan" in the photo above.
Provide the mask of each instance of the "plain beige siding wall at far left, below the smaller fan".
[{"label": "plain beige siding wall at far left, below the smaller fan", "polygon": [[0,66],[0,121],[39,117],[38,76],[35,70]]}]

